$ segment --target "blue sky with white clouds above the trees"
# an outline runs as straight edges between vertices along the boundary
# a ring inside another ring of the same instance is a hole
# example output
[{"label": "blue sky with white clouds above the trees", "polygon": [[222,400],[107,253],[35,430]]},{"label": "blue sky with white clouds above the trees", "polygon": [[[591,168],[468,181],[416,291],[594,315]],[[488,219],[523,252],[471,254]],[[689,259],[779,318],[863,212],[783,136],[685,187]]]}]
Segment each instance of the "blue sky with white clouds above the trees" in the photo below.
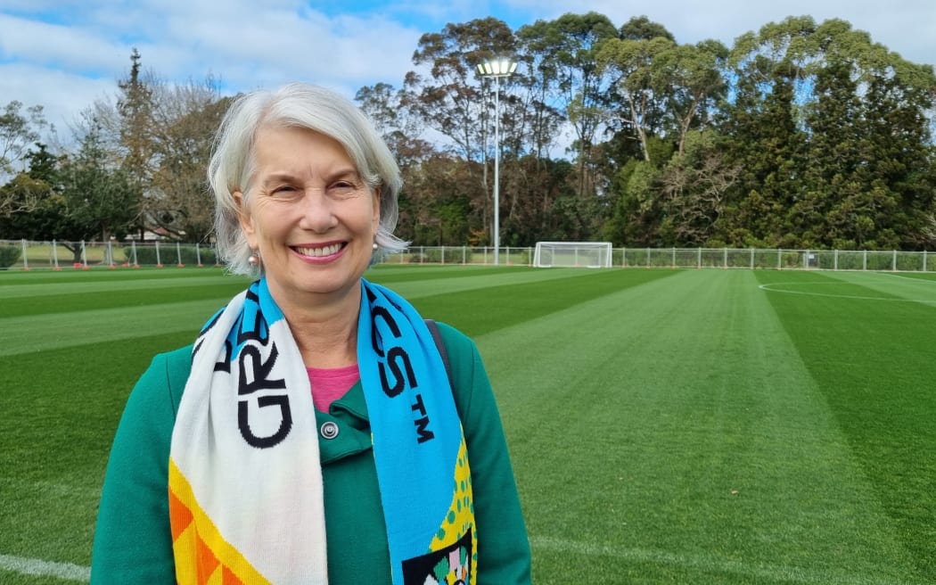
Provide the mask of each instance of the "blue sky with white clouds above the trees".
[{"label": "blue sky with white clouds above the trees", "polygon": [[934,0],[0,0],[0,108],[41,105],[59,135],[113,100],[137,48],[169,82],[219,80],[225,95],[292,80],[353,97],[402,86],[424,33],[489,16],[513,30],[566,12],[616,26],[645,15],[679,43],[740,35],[788,16],[838,18],[920,64],[936,63]]}]

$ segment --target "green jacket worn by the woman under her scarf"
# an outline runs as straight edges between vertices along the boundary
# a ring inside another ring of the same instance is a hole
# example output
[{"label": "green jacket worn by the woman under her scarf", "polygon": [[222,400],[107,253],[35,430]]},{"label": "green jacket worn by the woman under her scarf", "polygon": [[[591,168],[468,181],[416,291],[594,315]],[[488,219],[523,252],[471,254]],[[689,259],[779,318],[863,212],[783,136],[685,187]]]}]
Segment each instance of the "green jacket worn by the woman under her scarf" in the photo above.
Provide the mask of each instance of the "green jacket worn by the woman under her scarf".
[{"label": "green jacket worn by the woman under her scarf", "polygon": [[[530,583],[530,546],[488,374],[473,341],[443,323],[439,329],[471,462],[477,585]],[[97,515],[93,585],[175,582],[167,465],[190,366],[191,347],[156,356],[127,400]],[[319,427],[330,420],[340,429],[333,439],[319,436],[329,585],[390,585],[387,529],[360,383],[329,411],[315,413]]]}]

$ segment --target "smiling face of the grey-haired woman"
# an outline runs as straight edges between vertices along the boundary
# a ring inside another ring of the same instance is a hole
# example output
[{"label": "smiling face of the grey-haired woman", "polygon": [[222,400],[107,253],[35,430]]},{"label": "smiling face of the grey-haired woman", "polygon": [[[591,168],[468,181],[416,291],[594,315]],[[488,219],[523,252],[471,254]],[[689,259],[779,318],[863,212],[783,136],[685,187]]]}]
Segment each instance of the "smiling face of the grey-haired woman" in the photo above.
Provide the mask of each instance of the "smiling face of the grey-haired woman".
[{"label": "smiling face of the grey-haired woman", "polygon": [[262,127],[254,163],[246,204],[241,193],[234,197],[281,308],[359,290],[380,201],[342,145],[305,128]]}]

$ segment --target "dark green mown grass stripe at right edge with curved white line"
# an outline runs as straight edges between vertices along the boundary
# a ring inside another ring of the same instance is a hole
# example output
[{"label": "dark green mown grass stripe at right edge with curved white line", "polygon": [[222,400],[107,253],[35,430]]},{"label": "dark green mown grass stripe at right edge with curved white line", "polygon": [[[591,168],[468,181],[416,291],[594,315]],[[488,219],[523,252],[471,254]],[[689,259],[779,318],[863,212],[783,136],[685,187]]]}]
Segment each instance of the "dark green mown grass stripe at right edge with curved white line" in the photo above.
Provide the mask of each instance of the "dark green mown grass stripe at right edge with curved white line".
[{"label": "dark green mown grass stripe at right edge with curved white line", "polygon": [[[764,272],[758,280],[781,279]],[[862,274],[800,280],[807,288],[826,290],[830,281],[850,287],[840,298],[778,292],[767,298],[875,486],[900,543],[920,574],[936,580],[936,460],[923,455],[936,451],[936,308],[874,298],[917,296],[918,285],[897,282],[888,288],[884,279]]]}]

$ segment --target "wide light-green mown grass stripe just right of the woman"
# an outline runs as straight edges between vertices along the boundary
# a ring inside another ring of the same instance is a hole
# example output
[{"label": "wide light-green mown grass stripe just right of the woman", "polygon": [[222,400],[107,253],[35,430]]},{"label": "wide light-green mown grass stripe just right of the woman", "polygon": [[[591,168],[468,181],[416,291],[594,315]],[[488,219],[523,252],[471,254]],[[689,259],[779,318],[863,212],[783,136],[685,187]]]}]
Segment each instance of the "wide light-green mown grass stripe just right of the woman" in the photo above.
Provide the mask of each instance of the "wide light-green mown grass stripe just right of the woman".
[{"label": "wide light-green mown grass stripe just right of the woman", "polygon": [[[847,563],[869,582],[908,575],[878,493],[751,272],[681,272],[477,341],[535,506],[531,534],[820,573]],[[538,583],[569,574],[567,559],[538,562]],[[659,582],[687,578],[668,570]]]}]

